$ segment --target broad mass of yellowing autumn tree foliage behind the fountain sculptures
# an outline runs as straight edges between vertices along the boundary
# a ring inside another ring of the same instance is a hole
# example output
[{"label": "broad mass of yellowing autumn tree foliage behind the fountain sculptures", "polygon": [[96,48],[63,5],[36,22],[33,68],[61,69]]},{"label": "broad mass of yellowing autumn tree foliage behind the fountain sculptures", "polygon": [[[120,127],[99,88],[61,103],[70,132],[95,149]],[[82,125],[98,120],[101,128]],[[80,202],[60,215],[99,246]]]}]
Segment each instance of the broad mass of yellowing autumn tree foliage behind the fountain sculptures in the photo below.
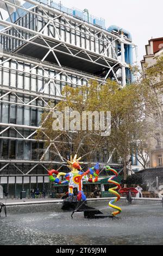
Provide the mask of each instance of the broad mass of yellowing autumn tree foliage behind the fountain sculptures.
[{"label": "broad mass of yellowing autumn tree foliage behind the fountain sculptures", "polygon": [[[89,86],[79,88],[66,86],[62,96],[63,99],[55,106],[58,111],[64,111],[65,107],[68,107],[70,112],[73,110],[80,114],[84,111],[111,111],[110,136],[101,136],[101,129],[90,131],[88,127],[80,131],[53,130],[54,103],[50,102],[51,111],[43,113],[42,127],[37,131],[37,139],[46,139],[47,150],[53,148],[54,157],[59,157],[61,161],[67,160],[67,155],[70,157],[70,155],[78,154],[85,157],[88,162],[88,160],[92,161],[93,154],[101,151],[103,147],[107,147],[109,151],[116,148],[117,154],[123,160],[125,183],[128,156],[133,150],[135,141],[140,139],[138,131],[143,134],[145,128],[147,114],[145,105],[149,100],[151,102],[153,100],[151,90],[140,83],[121,88],[119,84],[111,80],[107,80],[105,85],[90,81]],[[154,104],[150,105],[148,110],[151,111],[154,107]],[[82,127],[83,120],[80,120],[79,124],[76,123],[76,126],[78,125]],[[93,119],[93,127],[95,126],[96,120]]]}]

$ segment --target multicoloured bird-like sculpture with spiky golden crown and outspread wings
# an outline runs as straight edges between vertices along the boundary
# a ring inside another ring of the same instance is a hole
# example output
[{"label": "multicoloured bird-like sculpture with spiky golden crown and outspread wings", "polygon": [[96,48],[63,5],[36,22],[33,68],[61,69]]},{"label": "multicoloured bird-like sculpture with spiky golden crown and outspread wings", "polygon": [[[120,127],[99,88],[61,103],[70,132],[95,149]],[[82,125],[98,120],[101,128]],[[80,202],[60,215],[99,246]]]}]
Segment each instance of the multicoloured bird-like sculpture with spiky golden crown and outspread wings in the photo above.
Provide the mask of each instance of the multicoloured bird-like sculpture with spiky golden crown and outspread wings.
[{"label": "multicoloured bird-like sculpture with spiky golden crown and outspread wings", "polygon": [[[86,172],[82,172],[80,167],[81,162],[79,162],[81,157],[77,159],[77,155],[74,156],[70,161],[67,161],[68,167],[70,167],[70,173],[59,173],[57,170],[49,170],[49,180],[57,184],[67,184],[68,185],[68,196],[73,196],[73,189],[77,188],[78,196],[77,200],[86,201],[86,196],[83,192],[83,181],[96,182],[98,181],[99,174],[99,164],[97,163],[95,167],[88,169]],[[54,178],[53,174],[57,175],[57,178]],[[90,178],[89,176],[90,175]],[[65,181],[60,181],[60,176],[65,176]],[[93,176],[95,178],[93,178]]]}]

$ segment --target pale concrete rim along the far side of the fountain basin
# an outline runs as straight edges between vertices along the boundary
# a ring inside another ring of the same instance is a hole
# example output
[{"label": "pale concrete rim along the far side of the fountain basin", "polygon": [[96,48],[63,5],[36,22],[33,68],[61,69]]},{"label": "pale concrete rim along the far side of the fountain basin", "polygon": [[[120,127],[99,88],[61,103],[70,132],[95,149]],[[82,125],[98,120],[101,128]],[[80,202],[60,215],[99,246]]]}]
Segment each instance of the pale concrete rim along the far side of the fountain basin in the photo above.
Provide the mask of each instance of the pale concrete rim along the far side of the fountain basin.
[{"label": "pale concrete rim along the far side of the fountain basin", "polygon": [[[87,201],[91,202],[91,201],[102,201],[102,200],[112,200],[115,197],[107,197],[107,198],[88,198]],[[121,197],[120,200],[125,200],[125,197]],[[24,199],[22,199],[24,200]],[[141,201],[159,201],[161,202],[162,199],[161,198],[134,198],[134,200],[141,200]],[[4,203],[4,205],[6,206],[14,206],[14,205],[31,205],[31,204],[57,204],[57,203],[62,203],[63,200],[45,200],[45,201],[29,201],[29,202],[14,202],[14,203]]]}]

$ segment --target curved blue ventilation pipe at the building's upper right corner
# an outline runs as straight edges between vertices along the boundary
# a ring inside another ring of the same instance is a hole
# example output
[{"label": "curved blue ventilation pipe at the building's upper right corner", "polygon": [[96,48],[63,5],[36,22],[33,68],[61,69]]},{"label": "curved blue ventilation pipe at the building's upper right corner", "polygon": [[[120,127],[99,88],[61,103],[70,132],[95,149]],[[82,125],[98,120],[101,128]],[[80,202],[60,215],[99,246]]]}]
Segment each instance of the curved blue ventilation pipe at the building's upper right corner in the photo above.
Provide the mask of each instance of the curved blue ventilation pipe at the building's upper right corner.
[{"label": "curved blue ventilation pipe at the building's upper right corner", "polygon": [[[132,36],[131,33],[128,32],[126,29],[122,29],[116,25],[112,25],[108,28],[108,31],[112,32],[112,31],[122,31],[124,33],[124,35],[127,36],[127,38],[132,41]],[[132,45],[126,45],[125,46],[125,62],[129,65],[133,65],[133,47]],[[126,77],[131,81],[131,83],[134,81],[134,77],[133,74],[131,73],[131,71],[129,69],[126,69]]]}]

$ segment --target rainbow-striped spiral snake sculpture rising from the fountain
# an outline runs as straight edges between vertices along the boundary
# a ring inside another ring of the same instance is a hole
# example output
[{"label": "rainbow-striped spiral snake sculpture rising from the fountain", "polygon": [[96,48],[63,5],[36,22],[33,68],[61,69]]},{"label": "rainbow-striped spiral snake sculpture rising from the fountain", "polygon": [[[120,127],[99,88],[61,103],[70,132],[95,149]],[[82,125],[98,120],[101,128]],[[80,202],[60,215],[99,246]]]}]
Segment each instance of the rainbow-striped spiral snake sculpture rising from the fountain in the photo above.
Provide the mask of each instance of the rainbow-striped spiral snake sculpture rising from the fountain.
[{"label": "rainbow-striped spiral snake sculpture rising from the fountain", "polygon": [[110,202],[109,202],[109,206],[111,207],[111,208],[113,208],[113,209],[116,209],[117,211],[113,211],[111,214],[112,214],[112,216],[116,216],[116,215],[118,215],[118,214],[120,214],[121,213],[121,211],[122,211],[122,209],[120,208],[120,207],[118,207],[118,206],[116,206],[116,205],[114,205],[114,203],[116,203],[118,200],[120,200],[120,194],[118,194],[118,192],[117,191],[115,191],[115,190],[119,190],[120,189],[120,184],[118,183],[118,182],[116,182],[116,181],[114,181],[113,179],[114,178],[116,178],[117,176],[118,176],[118,173],[117,173],[117,171],[116,170],[114,170],[114,169],[112,169],[112,168],[110,168],[110,166],[106,166],[106,170],[107,171],[110,171],[110,172],[113,172],[115,175],[113,175],[113,176],[111,176],[109,179],[108,179],[108,182],[110,183],[110,184],[114,184],[114,185],[116,185],[115,187],[112,187],[112,188],[109,188],[109,192],[111,193],[111,194],[114,194],[117,198],[115,198],[115,199],[112,199]]}]

